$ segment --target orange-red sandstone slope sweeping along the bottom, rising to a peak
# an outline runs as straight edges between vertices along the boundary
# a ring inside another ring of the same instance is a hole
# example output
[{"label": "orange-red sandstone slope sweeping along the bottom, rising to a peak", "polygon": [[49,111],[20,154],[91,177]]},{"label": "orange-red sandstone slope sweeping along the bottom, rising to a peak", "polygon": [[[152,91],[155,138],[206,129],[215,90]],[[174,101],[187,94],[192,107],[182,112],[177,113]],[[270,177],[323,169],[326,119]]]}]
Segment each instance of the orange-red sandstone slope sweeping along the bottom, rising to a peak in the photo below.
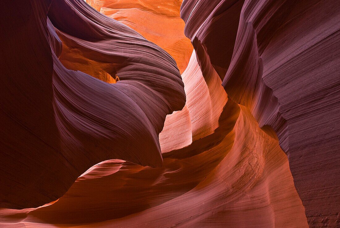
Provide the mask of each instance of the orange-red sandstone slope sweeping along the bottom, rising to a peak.
[{"label": "orange-red sandstone slope sweeping along the bottom, rising to a peak", "polygon": [[54,204],[2,210],[1,219],[27,227],[307,227],[277,141],[246,107],[226,108],[216,131],[222,140],[206,151],[165,153],[161,168],[101,163]]}]

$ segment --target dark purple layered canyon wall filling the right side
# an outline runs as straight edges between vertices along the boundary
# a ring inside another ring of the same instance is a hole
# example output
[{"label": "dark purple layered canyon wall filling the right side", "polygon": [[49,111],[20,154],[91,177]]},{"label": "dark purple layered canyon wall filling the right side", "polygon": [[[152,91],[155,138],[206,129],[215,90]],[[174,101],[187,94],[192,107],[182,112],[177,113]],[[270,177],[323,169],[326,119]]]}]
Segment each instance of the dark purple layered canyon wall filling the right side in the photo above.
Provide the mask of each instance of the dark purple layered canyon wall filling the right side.
[{"label": "dark purple layered canyon wall filling the right side", "polygon": [[277,135],[310,227],[340,224],[339,8],[334,0],[185,0],[181,9],[186,35],[204,50],[198,59],[208,55],[228,96]]}]

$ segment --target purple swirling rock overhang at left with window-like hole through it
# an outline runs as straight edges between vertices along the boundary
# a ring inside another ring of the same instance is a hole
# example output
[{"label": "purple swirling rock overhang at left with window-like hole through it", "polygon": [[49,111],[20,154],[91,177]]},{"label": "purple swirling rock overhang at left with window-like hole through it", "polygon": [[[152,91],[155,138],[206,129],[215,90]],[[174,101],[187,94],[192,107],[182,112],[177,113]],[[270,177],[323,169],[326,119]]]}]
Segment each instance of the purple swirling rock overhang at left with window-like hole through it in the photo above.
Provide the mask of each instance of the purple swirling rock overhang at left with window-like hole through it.
[{"label": "purple swirling rock overhang at left with window-like hole through it", "polygon": [[[84,1],[14,1],[1,9],[0,207],[56,200],[107,159],[162,165],[158,134],[185,103],[169,54]],[[66,69],[54,27],[85,57],[109,63],[105,71],[120,81]]]}]

